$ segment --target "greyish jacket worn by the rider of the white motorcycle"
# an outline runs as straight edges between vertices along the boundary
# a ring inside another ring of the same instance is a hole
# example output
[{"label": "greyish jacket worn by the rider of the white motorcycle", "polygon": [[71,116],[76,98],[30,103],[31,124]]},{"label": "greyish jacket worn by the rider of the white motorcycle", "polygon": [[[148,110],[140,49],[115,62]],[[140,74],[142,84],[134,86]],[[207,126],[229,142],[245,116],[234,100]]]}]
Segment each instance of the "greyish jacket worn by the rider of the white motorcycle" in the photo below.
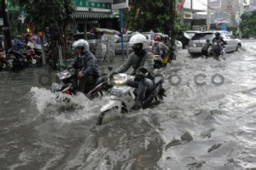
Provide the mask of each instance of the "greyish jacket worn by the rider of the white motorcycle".
[{"label": "greyish jacket worn by the rider of the white motorcycle", "polygon": [[[141,61],[140,61],[141,60]],[[140,63],[138,64],[138,62],[140,61]],[[154,77],[154,55],[153,53],[150,52],[146,52],[144,57],[139,58],[134,52],[130,53],[130,56],[128,57],[128,60],[122,64],[120,67],[118,67],[118,69],[115,69],[114,72],[115,73],[124,73],[126,72],[130,66],[133,67],[134,69],[134,75],[138,73],[138,69],[139,68],[145,68],[147,69],[147,71],[150,73],[151,77]]]}]

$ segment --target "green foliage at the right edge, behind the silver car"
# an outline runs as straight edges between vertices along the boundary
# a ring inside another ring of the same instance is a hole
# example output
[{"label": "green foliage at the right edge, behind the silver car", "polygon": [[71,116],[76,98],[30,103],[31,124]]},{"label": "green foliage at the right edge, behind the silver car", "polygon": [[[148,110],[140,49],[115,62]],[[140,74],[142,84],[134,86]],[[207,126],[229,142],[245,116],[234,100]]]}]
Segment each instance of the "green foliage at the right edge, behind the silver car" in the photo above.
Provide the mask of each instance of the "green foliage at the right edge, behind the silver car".
[{"label": "green foliage at the right edge, behind the silver car", "polygon": [[240,23],[243,38],[250,38],[256,36],[256,10],[250,14],[242,15],[242,22]]}]

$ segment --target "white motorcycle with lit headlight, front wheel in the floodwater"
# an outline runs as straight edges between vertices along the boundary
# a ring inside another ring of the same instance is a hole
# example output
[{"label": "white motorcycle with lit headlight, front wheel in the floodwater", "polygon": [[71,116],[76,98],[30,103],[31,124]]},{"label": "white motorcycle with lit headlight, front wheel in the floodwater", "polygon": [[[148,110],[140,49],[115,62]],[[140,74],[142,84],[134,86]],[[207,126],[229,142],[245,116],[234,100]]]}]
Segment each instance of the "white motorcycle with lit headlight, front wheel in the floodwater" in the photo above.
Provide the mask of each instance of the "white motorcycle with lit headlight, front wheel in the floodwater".
[{"label": "white motorcycle with lit headlight, front wheel in the floodwater", "polygon": [[[107,120],[106,115],[111,117],[110,112],[120,115],[120,113],[130,112],[134,108],[135,89],[127,85],[127,82],[133,81],[134,78],[134,76],[127,75],[126,73],[119,73],[108,80],[108,83],[114,86],[110,89],[110,101],[102,106],[96,125],[102,125]],[[165,90],[162,88],[163,81],[164,77],[162,75],[154,78],[154,89],[146,93],[146,99],[142,101],[142,109],[149,107],[153,101],[163,100],[163,97],[166,96]]]}]

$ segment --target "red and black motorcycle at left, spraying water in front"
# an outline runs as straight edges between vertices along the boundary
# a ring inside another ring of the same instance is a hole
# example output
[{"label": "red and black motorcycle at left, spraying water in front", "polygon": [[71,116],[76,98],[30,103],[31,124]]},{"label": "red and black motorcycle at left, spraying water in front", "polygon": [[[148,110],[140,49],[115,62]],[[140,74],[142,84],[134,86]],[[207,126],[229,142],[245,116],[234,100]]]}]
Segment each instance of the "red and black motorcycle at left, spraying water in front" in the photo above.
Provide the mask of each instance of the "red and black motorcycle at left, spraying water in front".
[{"label": "red and black motorcycle at left, spraying water in front", "polygon": [[[57,73],[59,83],[53,83],[51,85],[51,90],[53,93],[65,93],[68,95],[76,95],[78,92],[78,89],[76,88],[77,85],[77,74],[78,71],[75,69],[69,69],[69,70],[62,70],[60,73]],[[102,77],[98,77],[98,80],[94,84],[94,88],[90,89],[88,93],[86,93],[86,97],[89,99],[93,99],[94,97],[102,97],[103,96],[103,90],[110,89],[110,86],[107,85],[107,76],[106,74],[103,74]],[[65,101],[69,101],[68,99],[65,99]]]}]

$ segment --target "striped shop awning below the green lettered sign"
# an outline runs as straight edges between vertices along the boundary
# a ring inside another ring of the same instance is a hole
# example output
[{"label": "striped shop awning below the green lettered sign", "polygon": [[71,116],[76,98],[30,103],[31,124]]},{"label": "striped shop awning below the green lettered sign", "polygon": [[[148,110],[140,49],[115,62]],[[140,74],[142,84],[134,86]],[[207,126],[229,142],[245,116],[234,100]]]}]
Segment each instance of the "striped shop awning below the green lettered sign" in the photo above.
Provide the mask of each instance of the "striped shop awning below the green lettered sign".
[{"label": "striped shop awning below the green lettered sign", "polygon": [[95,12],[85,12],[85,11],[76,11],[74,13],[74,18],[115,18],[111,13],[95,13]]}]

